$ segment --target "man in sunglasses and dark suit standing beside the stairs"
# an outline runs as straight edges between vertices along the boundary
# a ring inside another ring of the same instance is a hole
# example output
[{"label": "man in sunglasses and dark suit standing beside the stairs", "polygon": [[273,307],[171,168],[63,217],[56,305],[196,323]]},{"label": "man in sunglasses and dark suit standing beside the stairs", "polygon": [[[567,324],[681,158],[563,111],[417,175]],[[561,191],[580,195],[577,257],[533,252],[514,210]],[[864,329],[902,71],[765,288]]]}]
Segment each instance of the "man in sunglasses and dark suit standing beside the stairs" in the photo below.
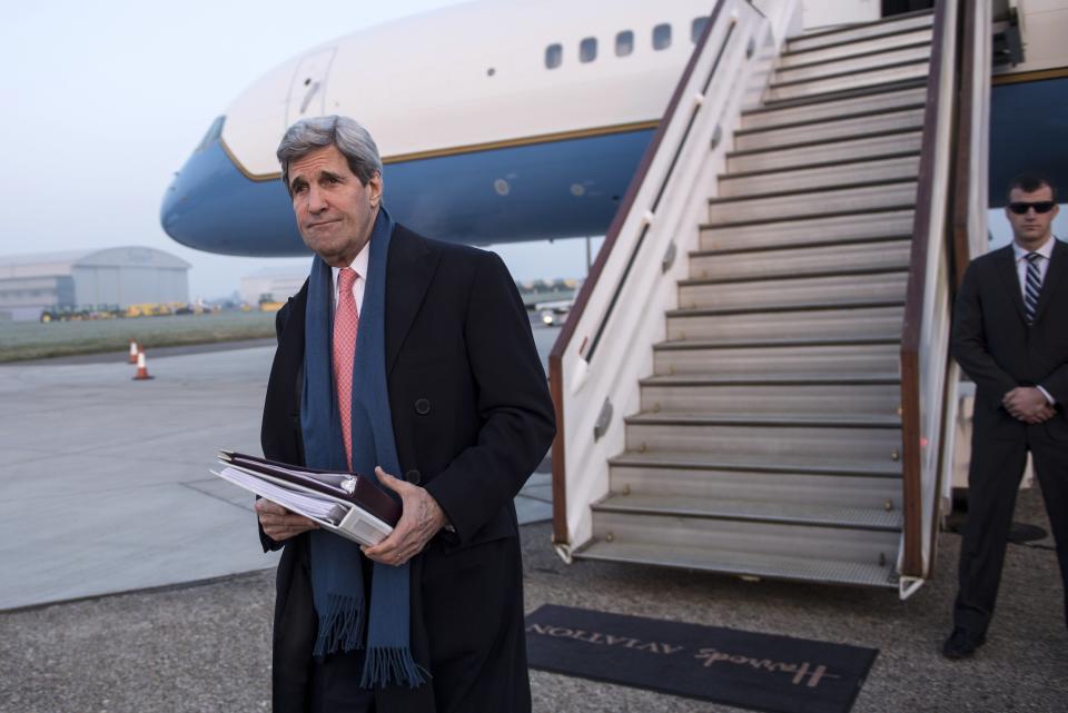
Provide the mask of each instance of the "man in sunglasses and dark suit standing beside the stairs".
[{"label": "man in sunglasses and dark suit standing beside the stairs", "polygon": [[953,356],[976,383],[976,402],[947,658],[971,656],[986,641],[1028,452],[1068,597],[1068,246],[1052,236],[1048,180],[1021,176],[1008,198],[1012,245],[968,266],[953,314]]}]

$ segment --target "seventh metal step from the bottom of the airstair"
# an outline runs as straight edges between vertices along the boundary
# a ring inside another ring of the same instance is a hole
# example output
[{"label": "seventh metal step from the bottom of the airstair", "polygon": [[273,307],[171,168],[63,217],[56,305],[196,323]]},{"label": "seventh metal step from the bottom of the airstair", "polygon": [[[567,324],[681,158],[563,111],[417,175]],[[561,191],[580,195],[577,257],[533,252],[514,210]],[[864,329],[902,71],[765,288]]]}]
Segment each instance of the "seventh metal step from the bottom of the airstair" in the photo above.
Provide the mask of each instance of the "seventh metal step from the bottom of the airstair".
[{"label": "seventh metal step from the bottom of the airstair", "polygon": [[712,310],[678,309],[668,315],[671,341],[733,339],[900,339],[904,306],[901,303],[854,303],[840,305],[790,305],[778,309]]}]

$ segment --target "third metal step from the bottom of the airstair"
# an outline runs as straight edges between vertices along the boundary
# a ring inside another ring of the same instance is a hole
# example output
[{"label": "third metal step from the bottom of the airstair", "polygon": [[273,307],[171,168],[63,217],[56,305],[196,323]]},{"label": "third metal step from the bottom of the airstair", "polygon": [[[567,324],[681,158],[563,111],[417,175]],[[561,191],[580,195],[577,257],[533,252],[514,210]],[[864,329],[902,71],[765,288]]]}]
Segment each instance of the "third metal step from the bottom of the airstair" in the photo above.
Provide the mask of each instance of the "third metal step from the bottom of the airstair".
[{"label": "third metal step from the bottom of the airstair", "polygon": [[696,501],[779,501],[789,493],[799,505],[901,509],[896,475],[730,471],[723,468],[613,465],[616,494],[671,495]]}]

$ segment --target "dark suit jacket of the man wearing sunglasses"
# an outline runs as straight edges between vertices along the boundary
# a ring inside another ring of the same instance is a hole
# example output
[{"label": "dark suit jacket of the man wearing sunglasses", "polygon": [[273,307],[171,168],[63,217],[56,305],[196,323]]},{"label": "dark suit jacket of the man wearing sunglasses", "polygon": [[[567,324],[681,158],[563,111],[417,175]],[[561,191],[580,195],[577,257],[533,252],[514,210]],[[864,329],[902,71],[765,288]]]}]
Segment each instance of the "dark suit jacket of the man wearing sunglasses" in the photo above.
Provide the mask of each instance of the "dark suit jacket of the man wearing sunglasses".
[{"label": "dark suit jacket of the man wearing sunglasses", "polygon": [[[1055,240],[1030,326],[1012,246],[972,260],[957,296],[952,349],[976,383],[977,438],[1024,438],[1030,428],[1068,440],[1068,246]],[[1057,414],[1035,426],[1013,418],[1001,398],[1017,386],[1045,388]]]}]

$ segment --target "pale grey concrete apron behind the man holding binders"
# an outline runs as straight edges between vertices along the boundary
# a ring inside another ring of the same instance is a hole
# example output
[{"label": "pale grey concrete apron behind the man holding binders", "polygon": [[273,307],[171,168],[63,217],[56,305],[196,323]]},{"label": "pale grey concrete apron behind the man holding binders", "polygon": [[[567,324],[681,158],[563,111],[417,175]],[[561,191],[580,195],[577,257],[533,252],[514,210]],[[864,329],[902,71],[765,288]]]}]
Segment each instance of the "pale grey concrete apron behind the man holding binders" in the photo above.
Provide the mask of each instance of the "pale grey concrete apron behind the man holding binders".
[{"label": "pale grey concrete apron behind the man holding binders", "polygon": [[[558,329],[535,329],[547,355]],[[259,454],[274,346],[0,366],[0,611],[273,567],[215,452]],[[516,509],[552,514],[547,462]],[[0,712],[2,712],[0,699]]]}]

